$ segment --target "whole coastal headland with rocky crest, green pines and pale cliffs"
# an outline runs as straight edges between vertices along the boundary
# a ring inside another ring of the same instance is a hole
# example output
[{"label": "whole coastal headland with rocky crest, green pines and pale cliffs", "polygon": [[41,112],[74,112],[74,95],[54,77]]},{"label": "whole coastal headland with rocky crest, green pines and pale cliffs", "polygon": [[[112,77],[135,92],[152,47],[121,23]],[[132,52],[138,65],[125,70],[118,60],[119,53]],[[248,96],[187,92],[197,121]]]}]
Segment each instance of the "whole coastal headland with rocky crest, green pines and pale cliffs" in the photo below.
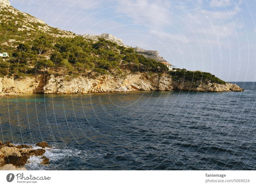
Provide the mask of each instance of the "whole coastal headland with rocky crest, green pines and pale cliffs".
[{"label": "whole coastal headland with rocky crest, green pines and pale cliffs", "polygon": [[129,47],[111,34],[76,35],[50,27],[13,8],[8,0],[0,0],[0,18],[0,53],[9,54],[8,58],[0,57],[2,94],[179,89],[172,76],[180,83],[191,82],[190,88],[200,91],[204,91],[196,82],[200,80],[200,84],[216,84],[211,84],[209,91],[219,91],[215,89],[219,84],[227,86],[210,73],[170,72],[160,63],[166,60],[157,51]]}]

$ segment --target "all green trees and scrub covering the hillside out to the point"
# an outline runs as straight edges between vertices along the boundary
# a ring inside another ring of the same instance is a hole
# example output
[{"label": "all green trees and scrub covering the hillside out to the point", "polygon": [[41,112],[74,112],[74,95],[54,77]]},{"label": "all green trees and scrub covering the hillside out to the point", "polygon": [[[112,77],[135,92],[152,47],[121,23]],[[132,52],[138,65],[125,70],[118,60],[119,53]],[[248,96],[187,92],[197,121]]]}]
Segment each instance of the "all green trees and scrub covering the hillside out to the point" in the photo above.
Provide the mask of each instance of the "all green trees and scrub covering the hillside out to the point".
[{"label": "all green trees and scrub covering the hillside out to the point", "polygon": [[[17,11],[18,12],[18,11]],[[32,17],[32,16],[31,16]],[[0,11],[0,52],[7,52],[7,60],[0,58],[0,77],[20,78],[35,74],[72,75],[76,77],[91,72],[125,77],[125,71],[148,72],[149,76],[168,72],[167,67],[153,59],[145,58],[133,48],[118,46],[100,38],[98,42],[86,40],[82,36],[56,37],[64,32],[47,27],[47,33],[38,22],[24,24],[26,16]],[[24,28],[30,27],[30,29]],[[189,81],[211,81],[225,83],[210,73],[177,69],[169,72],[173,78]],[[196,84],[194,85],[196,86]]]}]

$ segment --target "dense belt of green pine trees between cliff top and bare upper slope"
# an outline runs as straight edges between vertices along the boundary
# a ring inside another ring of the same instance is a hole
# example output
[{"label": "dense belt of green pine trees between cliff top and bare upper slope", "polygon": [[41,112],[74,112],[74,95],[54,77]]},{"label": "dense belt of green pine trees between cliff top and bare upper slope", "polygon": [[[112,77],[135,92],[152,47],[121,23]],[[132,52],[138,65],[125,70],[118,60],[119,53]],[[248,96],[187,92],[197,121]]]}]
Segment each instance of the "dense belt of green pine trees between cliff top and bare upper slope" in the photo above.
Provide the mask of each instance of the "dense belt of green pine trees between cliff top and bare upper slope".
[{"label": "dense belt of green pine trees between cliff top and bare upper slope", "polygon": [[54,69],[62,70],[60,74],[63,75],[91,71],[98,75],[121,75],[127,68],[133,71],[166,71],[164,64],[143,57],[133,48],[118,46],[103,38],[93,43],[81,36],[53,37],[39,32],[33,40],[25,40],[17,45],[7,50],[12,58],[0,63],[2,76],[18,78]]}]

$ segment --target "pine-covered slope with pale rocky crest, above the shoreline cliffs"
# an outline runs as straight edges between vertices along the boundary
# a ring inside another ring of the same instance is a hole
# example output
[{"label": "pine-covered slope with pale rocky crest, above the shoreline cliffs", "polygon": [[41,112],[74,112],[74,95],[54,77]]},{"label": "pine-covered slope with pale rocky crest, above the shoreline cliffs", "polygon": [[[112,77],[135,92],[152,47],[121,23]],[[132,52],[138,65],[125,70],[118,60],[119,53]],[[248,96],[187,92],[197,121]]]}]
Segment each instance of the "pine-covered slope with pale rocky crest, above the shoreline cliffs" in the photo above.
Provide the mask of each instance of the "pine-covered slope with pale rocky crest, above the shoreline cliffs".
[{"label": "pine-covered slope with pale rocky crest, above the shoreline cliffs", "polygon": [[129,65],[138,71],[143,68],[154,70],[157,66],[165,70],[165,65],[137,54],[131,47],[120,44],[120,39],[113,37],[117,43],[104,39],[111,35],[76,35],[50,27],[13,8],[6,0],[1,0],[1,4],[0,50],[12,57],[9,62],[2,63],[2,76],[19,78],[42,71],[52,73],[53,67],[73,75],[91,71],[121,74],[121,69]]}]

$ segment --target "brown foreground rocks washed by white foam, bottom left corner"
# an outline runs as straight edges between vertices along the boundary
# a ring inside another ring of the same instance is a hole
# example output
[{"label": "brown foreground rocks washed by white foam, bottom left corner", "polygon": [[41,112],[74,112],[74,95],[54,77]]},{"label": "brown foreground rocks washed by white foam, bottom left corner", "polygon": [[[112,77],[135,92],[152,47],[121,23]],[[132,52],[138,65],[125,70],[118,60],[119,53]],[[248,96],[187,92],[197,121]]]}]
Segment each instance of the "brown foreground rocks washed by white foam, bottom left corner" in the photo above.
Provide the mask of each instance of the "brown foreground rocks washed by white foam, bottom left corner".
[{"label": "brown foreground rocks washed by white foam, bottom left corner", "polygon": [[[36,143],[36,146],[41,148],[32,149],[32,146],[30,145],[14,145],[10,141],[7,141],[6,143],[0,141],[0,169],[5,170],[6,167],[11,167],[11,169],[24,167],[26,163],[29,163],[28,159],[32,156],[38,156],[42,159],[41,164],[48,165],[49,159],[44,156],[44,153],[46,151],[45,148],[51,148],[51,146],[44,141]],[[9,164],[11,164],[11,166]]]}]

